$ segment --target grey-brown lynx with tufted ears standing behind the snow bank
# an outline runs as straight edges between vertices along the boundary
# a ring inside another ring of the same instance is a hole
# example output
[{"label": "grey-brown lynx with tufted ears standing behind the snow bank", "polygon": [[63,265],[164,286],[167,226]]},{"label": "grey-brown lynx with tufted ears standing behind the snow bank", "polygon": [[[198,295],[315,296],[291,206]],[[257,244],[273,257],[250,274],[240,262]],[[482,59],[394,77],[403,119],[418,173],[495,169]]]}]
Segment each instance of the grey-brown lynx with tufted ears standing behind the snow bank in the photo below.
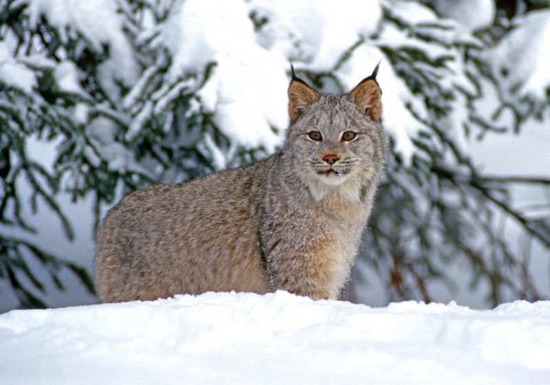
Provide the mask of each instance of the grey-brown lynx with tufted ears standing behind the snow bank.
[{"label": "grey-brown lynx with tufted ears standing behind the snow bank", "polygon": [[344,95],[320,94],[293,70],[281,151],[124,198],[98,234],[99,299],[276,289],[338,298],[386,162],[377,70]]}]

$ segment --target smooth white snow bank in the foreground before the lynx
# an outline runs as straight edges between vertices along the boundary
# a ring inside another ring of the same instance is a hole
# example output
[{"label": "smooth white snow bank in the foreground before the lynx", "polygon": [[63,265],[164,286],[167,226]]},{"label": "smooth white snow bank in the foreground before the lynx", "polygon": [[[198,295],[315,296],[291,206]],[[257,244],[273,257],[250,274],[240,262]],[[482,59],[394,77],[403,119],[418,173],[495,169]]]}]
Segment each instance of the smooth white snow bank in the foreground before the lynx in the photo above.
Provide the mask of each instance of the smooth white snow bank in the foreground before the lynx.
[{"label": "smooth white snow bank in the foreground before the lynx", "polygon": [[10,311],[2,384],[549,384],[550,301],[370,308],[276,292]]}]

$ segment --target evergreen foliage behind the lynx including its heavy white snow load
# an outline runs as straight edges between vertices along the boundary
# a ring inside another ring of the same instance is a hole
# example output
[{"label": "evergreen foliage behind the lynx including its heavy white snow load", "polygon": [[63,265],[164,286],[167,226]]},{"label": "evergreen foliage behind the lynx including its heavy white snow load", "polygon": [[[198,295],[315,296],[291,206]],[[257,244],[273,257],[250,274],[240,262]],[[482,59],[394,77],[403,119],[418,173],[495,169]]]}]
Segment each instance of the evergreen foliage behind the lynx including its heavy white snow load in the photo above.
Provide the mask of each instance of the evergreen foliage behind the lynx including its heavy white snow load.
[{"label": "evergreen foliage behind the lynx including its heavy white snow load", "polygon": [[[466,151],[487,131],[549,119],[550,11],[522,4],[513,17],[486,0],[0,0],[0,279],[23,306],[43,302],[29,258],[58,287],[62,267],[90,287],[85,270],[21,236],[34,230],[21,181],[72,239],[60,192],[93,195],[97,227],[131,190],[275,151],[289,62],[344,92],[381,61],[391,157],[356,278],[370,270],[388,298],[430,300],[432,283],[463,282],[448,269],[463,261],[492,303],[539,298],[529,249],[511,248],[496,219],[549,248],[547,219],[515,208],[516,180],[481,175]],[[31,138],[56,144],[53,164],[28,153]]]}]

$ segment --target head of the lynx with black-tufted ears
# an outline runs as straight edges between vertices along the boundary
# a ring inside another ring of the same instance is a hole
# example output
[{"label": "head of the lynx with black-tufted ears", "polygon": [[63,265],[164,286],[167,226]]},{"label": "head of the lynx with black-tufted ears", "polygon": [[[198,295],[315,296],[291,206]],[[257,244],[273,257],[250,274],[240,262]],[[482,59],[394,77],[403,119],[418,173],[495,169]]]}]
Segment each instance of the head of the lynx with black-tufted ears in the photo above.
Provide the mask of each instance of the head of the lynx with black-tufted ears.
[{"label": "head of the lynx with black-tufted ears", "polygon": [[288,89],[290,126],[284,152],[316,200],[333,188],[359,199],[386,162],[382,90],[376,75],[349,94],[320,94],[294,74]]}]

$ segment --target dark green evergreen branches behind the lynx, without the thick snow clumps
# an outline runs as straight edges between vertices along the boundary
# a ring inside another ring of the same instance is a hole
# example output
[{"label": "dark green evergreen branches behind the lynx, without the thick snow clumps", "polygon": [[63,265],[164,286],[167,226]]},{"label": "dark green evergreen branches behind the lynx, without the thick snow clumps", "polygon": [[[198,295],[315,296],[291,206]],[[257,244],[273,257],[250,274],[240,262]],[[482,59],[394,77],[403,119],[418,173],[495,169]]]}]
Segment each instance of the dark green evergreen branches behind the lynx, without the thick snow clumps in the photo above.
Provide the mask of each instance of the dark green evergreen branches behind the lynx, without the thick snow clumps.
[{"label": "dark green evergreen branches behind the lynx, without the thick snow clumps", "polygon": [[[505,292],[541,298],[529,272],[529,249],[517,252],[497,219],[515,221],[526,244],[550,248],[548,219],[529,217],[509,196],[514,184],[548,186],[550,180],[483,175],[463,142],[510,131],[499,121],[505,111],[516,132],[533,118],[548,119],[548,88],[533,94],[511,84],[507,69],[486,54],[514,32],[516,19],[547,5],[497,1],[494,22],[467,30],[435,13],[439,1],[379,3],[376,31],[358,34],[322,69],[310,65],[303,36],[274,35],[285,32],[276,5],[246,3],[259,45],[276,50],[276,39],[287,39],[292,48],[285,60],[316,87],[347,91],[349,69],[369,50],[382,56],[402,87],[412,127],[406,137],[395,131],[391,137],[388,172],[360,256],[366,264],[355,278],[370,269],[387,285],[389,300],[433,300],[433,283],[459,284],[447,267],[460,260],[470,266],[472,287],[489,283],[493,305]],[[120,195],[245,164],[270,151],[262,141],[236,140],[221,126],[221,111],[208,100],[215,58],[180,65],[180,52],[167,36],[184,1],[63,3],[74,8],[56,13],[59,4],[0,0],[0,279],[9,282],[22,307],[45,306],[41,277],[50,276],[63,289],[58,274],[65,268],[93,290],[83,267],[28,241],[25,234],[36,228],[21,214],[22,181],[32,190],[32,209],[49,206],[73,239],[72,219],[58,203],[62,191],[74,201],[93,195],[97,228],[104,209]],[[408,11],[433,18],[417,21]],[[487,92],[496,95],[494,111],[481,103]],[[285,128],[271,121],[267,126],[274,135]],[[28,154],[30,138],[56,143],[52,169]],[[30,259],[46,274],[34,274]]]}]

